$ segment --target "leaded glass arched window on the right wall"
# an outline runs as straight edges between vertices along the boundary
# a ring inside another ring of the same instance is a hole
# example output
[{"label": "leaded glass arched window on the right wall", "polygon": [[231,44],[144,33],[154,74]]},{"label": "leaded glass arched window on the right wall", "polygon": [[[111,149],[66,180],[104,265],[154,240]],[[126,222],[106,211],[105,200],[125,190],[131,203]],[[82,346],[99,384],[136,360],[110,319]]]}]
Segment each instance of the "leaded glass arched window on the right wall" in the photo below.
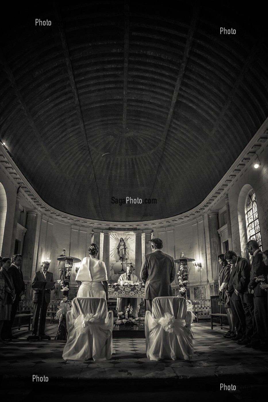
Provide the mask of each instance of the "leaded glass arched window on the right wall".
[{"label": "leaded glass arched window on the right wall", "polygon": [[248,240],[256,240],[262,249],[262,238],[260,235],[260,222],[258,216],[258,208],[256,202],[256,194],[252,190],[247,198],[247,203],[245,207],[245,215],[247,219],[247,233]]}]

